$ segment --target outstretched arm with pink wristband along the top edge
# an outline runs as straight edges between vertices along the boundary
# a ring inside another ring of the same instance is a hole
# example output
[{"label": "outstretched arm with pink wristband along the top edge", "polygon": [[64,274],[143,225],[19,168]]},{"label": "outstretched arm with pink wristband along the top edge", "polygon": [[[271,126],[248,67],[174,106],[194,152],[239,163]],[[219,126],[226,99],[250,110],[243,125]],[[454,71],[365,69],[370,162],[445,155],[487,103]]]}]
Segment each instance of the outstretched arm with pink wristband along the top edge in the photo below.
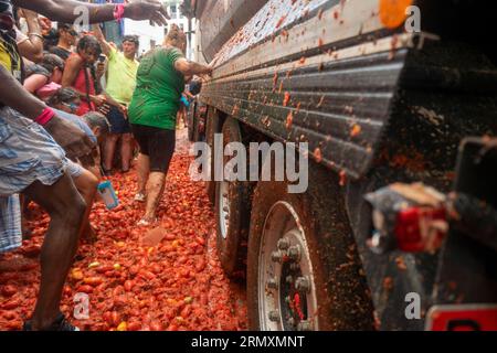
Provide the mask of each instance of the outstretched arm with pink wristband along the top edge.
[{"label": "outstretched arm with pink wristband along the top edge", "polygon": [[[88,9],[89,23],[114,20],[115,3],[93,4],[75,0],[12,0],[21,8],[39,12],[54,21],[72,23],[83,14],[76,8]],[[169,15],[158,0],[131,0],[124,6],[124,17],[131,20],[150,20],[157,24],[166,24]]]}]

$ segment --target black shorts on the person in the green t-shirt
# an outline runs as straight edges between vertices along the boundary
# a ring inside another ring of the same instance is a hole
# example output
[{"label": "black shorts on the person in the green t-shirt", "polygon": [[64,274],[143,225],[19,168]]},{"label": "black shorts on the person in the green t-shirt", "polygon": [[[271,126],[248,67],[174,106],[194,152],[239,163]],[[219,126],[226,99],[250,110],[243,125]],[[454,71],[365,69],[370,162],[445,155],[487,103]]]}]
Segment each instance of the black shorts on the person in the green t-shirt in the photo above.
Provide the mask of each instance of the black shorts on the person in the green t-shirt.
[{"label": "black shorts on the person in the green t-shirt", "polygon": [[176,149],[176,130],[133,125],[133,135],[140,153],[150,158],[150,171],[168,173]]}]

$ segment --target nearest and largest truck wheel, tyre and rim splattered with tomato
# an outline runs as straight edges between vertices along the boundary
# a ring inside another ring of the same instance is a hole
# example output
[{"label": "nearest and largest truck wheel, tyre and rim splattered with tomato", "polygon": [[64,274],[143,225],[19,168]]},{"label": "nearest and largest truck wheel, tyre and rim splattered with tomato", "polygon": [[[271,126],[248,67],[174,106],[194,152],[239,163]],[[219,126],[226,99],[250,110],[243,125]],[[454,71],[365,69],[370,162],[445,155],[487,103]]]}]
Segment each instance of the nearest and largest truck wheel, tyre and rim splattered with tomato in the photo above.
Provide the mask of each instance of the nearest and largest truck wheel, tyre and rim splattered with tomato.
[{"label": "nearest and largest truck wheel, tyre and rim splattered with tomato", "polygon": [[372,303],[337,176],[309,165],[309,188],[260,182],[252,208],[247,304],[254,331],[372,330]]}]

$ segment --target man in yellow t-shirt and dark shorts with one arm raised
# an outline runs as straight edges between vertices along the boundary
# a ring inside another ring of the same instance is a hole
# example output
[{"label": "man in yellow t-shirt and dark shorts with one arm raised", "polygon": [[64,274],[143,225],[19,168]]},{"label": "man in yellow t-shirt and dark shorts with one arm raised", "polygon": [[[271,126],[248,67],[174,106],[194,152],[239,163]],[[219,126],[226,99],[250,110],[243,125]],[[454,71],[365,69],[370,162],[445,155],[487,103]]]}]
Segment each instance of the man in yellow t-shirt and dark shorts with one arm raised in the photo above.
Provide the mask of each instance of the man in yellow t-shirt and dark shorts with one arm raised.
[{"label": "man in yellow t-shirt and dark shorts with one arm raised", "polygon": [[98,25],[94,32],[101,42],[103,53],[108,57],[106,97],[110,104],[107,119],[110,122],[110,133],[105,141],[104,170],[110,172],[113,169],[114,153],[119,138],[121,138],[121,168],[127,172],[130,168],[133,156],[131,128],[127,118],[127,107],[131,101],[136,87],[136,74],[138,71],[139,42],[136,36],[127,35],[123,40],[123,52],[107,43]]}]

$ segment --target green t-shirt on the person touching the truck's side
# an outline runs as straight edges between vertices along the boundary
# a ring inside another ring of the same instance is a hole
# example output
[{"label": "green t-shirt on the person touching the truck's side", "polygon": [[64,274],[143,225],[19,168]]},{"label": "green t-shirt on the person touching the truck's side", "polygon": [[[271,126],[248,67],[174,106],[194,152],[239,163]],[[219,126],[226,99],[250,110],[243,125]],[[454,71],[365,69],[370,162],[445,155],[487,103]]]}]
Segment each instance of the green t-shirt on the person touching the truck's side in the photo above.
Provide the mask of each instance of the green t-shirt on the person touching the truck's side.
[{"label": "green t-shirt on the person touching the truck's side", "polygon": [[184,76],[175,68],[183,57],[178,49],[156,49],[138,67],[137,86],[128,114],[135,125],[176,129],[176,116],[184,90]]}]

